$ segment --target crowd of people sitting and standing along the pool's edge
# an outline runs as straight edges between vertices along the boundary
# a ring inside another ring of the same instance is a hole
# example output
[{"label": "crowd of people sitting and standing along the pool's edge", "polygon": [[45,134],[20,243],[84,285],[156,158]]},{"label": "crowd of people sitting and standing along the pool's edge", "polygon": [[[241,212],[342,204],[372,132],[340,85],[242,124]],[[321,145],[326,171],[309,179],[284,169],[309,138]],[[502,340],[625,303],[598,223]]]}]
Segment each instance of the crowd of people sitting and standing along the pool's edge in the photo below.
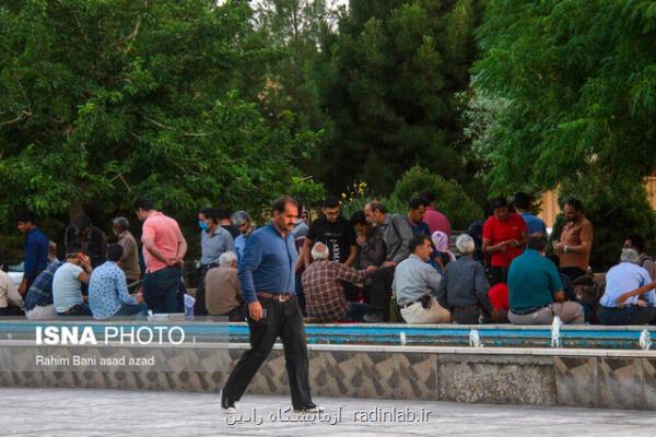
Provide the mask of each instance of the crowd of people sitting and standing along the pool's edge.
[{"label": "crowd of people sitting and standing along the pool's edge", "polygon": [[[114,217],[116,243],[108,244],[80,215],[66,228],[63,260],[35,217],[20,215],[24,274],[14,288],[0,272],[0,316],[107,319],[184,311],[187,240],[148,199],[137,199],[133,210],[142,222],[141,250],[127,217]],[[406,214],[372,200],[350,217],[329,197],[314,221],[297,209],[284,245],[272,238],[276,226],[256,229],[246,211],[202,209],[192,312],[243,321],[256,295],[276,292],[296,296],[312,322],[547,324],[555,316],[563,323],[656,321],[656,263],[640,235],[626,237],[600,293],[589,268],[594,226],[578,200],[565,202],[566,223],[550,243],[544,222],[530,212],[530,196],[493,199],[489,211],[455,239],[454,253],[449,221],[430,192],[410,199]],[[255,281],[249,272],[266,263],[277,268]],[[283,264],[290,268],[281,274]]]}]

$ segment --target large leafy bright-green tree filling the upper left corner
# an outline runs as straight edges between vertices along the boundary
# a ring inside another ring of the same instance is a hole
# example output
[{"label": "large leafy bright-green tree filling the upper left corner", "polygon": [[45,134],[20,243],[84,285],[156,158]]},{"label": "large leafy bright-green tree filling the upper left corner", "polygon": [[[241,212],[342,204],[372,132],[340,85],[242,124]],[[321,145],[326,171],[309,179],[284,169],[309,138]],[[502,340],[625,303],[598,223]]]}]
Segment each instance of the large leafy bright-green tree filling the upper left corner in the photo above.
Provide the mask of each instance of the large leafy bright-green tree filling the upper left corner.
[{"label": "large leafy bright-green tree filling the upper left corner", "polygon": [[[4,1],[0,211],[257,209],[320,187],[290,165],[317,137],[265,118],[277,58],[246,1]],[[311,187],[305,187],[311,185]]]}]

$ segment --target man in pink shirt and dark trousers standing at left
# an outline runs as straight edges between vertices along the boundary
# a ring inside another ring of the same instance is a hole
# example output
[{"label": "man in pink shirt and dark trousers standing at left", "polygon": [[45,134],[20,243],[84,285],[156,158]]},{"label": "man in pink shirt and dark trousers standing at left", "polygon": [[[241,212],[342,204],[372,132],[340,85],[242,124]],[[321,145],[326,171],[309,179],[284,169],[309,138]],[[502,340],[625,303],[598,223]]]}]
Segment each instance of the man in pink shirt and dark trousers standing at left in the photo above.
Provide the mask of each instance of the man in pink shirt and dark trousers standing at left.
[{"label": "man in pink shirt and dark trousers standing at left", "polygon": [[134,200],[134,212],[143,222],[144,300],[153,312],[180,312],[184,308],[177,291],[183,279],[187,240],[177,222],[156,211],[150,200]]}]

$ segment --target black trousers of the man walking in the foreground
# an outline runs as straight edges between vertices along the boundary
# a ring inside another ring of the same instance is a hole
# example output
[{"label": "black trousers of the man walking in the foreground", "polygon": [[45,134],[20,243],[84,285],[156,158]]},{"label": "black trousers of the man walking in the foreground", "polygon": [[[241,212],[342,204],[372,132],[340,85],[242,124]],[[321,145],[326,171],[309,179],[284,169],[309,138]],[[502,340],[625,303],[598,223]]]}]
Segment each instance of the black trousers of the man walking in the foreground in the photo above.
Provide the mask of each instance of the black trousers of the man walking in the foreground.
[{"label": "black trousers of the man walking in the foreground", "polygon": [[227,378],[227,382],[223,388],[223,395],[234,401],[242,399],[253,377],[269,356],[276,339],[280,336],[290,380],[292,406],[301,409],[311,404],[312,398],[309,394],[307,345],[298,299],[294,296],[282,303],[263,297],[260,297],[259,300],[266,317],[259,321],[248,317],[250,350],[242,355],[230,378]]}]

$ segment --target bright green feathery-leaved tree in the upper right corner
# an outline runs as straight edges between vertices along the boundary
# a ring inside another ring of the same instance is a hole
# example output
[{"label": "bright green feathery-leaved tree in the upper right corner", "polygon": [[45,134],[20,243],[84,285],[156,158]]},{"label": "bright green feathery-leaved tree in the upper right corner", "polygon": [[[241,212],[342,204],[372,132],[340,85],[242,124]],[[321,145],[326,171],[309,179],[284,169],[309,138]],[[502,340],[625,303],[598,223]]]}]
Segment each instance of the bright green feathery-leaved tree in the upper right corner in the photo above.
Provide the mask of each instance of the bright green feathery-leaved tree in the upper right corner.
[{"label": "bright green feathery-leaved tree in the upper right corner", "polygon": [[[639,184],[656,164],[654,1],[490,0],[473,107],[497,102],[481,151],[497,192],[601,166]],[[487,125],[485,125],[487,122]]]}]

